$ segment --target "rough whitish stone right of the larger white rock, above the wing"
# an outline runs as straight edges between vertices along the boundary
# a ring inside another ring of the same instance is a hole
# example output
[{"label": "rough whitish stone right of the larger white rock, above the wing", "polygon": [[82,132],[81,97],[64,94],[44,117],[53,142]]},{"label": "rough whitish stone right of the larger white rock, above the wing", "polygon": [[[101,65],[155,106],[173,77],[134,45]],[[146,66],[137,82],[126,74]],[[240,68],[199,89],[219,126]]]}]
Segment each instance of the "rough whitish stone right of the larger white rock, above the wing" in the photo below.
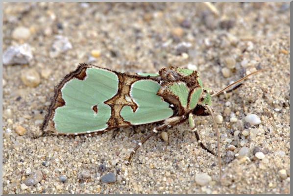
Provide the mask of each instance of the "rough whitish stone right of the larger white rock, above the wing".
[{"label": "rough whitish stone right of the larger white rock, above the wing", "polygon": [[61,53],[66,52],[69,49],[72,49],[72,44],[70,43],[67,37],[62,35],[56,35],[55,40],[50,49],[49,55],[51,58],[58,57]]}]

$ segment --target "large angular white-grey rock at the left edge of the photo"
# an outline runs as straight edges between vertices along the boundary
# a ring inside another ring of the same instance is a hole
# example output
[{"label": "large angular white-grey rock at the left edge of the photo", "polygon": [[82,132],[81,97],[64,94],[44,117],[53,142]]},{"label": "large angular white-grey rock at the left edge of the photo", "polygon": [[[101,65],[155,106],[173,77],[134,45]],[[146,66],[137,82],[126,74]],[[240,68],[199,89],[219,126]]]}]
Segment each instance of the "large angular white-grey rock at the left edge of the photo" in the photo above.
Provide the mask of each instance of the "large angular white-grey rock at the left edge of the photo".
[{"label": "large angular white-grey rock at the left edge of the photo", "polygon": [[33,58],[28,44],[11,46],[3,53],[3,65],[28,64]]}]

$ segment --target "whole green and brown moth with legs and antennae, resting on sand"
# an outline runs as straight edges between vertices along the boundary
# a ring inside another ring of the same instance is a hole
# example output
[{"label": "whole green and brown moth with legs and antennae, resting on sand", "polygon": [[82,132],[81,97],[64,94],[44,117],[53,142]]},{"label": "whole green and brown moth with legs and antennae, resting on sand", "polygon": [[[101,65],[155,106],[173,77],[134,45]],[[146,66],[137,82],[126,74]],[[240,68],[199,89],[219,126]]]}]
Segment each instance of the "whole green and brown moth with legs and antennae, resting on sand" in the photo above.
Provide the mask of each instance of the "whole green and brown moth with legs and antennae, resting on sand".
[{"label": "whole green and brown moth with legs and antennae, resting on sand", "polygon": [[[150,137],[185,121],[195,132],[195,117],[211,115],[218,139],[220,133],[211,108],[212,97],[243,81],[250,73],[217,93],[205,88],[197,71],[179,67],[159,73],[120,73],[95,65],[79,64],[56,86],[42,125],[44,132],[57,135],[103,133],[111,129],[160,123],[130,153],[131,157]],[[221,169],[220,169],[221,176]]]}]

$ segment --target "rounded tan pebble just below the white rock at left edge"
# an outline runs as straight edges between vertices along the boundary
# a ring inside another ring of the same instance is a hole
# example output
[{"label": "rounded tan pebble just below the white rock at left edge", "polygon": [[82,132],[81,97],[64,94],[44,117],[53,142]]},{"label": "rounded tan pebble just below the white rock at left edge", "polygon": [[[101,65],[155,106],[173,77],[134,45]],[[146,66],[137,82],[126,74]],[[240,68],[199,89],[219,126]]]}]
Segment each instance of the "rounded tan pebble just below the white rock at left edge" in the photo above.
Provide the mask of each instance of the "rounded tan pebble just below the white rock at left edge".
[{"label": "rounded tan pebble just below the white rock at left edge", "polygon": [[39,73],[34,69],[22,71],[21,79],[23,83],[28,87],[36,87],[41,82]]}]

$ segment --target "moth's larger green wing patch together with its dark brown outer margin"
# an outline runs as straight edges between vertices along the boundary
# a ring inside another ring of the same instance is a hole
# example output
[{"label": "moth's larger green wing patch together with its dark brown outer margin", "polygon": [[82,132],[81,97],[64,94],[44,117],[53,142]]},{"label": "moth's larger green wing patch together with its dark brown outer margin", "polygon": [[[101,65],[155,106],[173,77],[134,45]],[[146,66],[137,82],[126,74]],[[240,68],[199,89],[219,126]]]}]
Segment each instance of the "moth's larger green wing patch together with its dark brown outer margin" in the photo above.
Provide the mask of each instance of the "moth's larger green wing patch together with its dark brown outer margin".
[{"label": "moth's larger green wing patch together with its dark brown outer margin", "polygon": [[42,129],[55,134],[106,130],[111,107],[103,102],[117,93],[118,82],[110,70],[79,65],[57,86]]}]

